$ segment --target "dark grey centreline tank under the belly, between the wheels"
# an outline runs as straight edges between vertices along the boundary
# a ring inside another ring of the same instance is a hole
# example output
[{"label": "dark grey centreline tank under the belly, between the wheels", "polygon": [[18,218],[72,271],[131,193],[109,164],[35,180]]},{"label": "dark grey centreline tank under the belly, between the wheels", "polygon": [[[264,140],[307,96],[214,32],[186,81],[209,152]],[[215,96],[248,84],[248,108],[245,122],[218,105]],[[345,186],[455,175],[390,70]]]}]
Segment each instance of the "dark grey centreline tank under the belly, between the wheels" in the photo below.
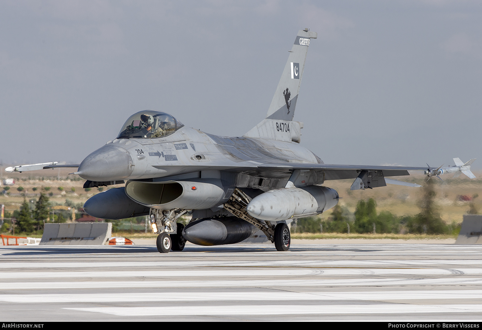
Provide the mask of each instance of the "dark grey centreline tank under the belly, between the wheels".
[{"label": "dark grey centreline tank under the belly, between the wheels", "polygon": [[235,244],[244,241],[258,229],[236,217],[205,218],[194,220],[184,227],[184,238],[197,245]]}]

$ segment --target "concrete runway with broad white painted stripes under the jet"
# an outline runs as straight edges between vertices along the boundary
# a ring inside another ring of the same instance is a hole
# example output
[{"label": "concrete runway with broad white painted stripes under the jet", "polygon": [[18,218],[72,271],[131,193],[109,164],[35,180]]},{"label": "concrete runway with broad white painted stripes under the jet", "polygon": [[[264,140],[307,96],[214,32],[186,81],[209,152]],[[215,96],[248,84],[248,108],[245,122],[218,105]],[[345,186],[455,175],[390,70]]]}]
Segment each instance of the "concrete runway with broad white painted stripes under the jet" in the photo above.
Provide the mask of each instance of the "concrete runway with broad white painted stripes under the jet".
[{"label": "concrete runway with broad white painted stripes under the jet", "polygon": [[2,321],[482,320],[482,246],[0,247]]}]

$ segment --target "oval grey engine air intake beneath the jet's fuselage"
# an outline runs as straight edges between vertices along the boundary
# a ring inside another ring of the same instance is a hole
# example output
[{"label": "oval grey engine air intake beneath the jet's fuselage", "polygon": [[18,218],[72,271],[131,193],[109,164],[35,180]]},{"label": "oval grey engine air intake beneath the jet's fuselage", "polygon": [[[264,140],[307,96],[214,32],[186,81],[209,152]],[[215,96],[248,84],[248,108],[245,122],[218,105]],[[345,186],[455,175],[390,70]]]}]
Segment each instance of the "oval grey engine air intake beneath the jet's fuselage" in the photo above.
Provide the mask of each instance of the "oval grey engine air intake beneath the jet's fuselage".
[{"label": "oval grey engine air intake beneath the jet's fuselage", "polygon": [[135,202],[157,209],[187,210],[219,206],[229,196],[220,179],[145,182],[127,181],[126,194]]}]

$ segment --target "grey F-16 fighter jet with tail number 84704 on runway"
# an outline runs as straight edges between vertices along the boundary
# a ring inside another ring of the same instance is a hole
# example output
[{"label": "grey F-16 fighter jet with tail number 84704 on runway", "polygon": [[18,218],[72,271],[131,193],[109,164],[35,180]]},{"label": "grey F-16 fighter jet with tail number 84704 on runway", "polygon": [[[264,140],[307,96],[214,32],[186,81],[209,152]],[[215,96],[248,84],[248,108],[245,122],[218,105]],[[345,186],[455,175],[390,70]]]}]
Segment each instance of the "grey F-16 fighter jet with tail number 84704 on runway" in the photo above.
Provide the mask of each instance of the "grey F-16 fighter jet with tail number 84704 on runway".
[{"label": "grey F-16 fighter jet with tail number 84704 on runway", "polygon": [[[161,253],[198,245],[238,243],[261,230],[279,251],[291,245],[288,224],[321,214],[339,201],[325,181],[354,179],[351,190],[387,183],[420,187],[389,177],[428,167],[324,164],[301,146],[304,124],[293,120],[309,44],[317,33],[299,30],[266,118],[242,137],[221,137],[190,128],[171,114],[143,110],[120,127],[117,138],[80,165],[55,162],[8,171],[78,167],[84,188],[125,184],[91,197],[84,210],[97,218],[148,215]],[[458,167],[469,174],[473,160]],[[460,174],[460,173],[459,173]],[[471,173],[470,173],[471,174]],[[473,176],[473,174],[471,174]],[[177,220],[189,214],[184,226]]]}]

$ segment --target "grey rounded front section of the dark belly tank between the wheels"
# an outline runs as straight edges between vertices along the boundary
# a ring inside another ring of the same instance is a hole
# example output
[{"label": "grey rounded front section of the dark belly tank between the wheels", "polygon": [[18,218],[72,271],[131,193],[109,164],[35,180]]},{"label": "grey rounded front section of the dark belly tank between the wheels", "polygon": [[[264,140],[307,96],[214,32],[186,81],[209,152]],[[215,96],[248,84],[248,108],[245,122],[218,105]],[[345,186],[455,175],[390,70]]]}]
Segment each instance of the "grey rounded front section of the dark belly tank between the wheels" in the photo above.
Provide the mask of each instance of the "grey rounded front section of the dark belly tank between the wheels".
[{"label": "grey rounded front section of the dark belly tank between the wheels", "polygon": [[189,242],[197,245],[217,245],[228,236],[228,230],[217,220],[195,220],[184,227],[182,234]]}]

